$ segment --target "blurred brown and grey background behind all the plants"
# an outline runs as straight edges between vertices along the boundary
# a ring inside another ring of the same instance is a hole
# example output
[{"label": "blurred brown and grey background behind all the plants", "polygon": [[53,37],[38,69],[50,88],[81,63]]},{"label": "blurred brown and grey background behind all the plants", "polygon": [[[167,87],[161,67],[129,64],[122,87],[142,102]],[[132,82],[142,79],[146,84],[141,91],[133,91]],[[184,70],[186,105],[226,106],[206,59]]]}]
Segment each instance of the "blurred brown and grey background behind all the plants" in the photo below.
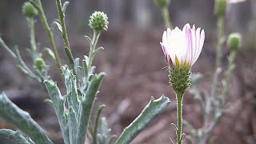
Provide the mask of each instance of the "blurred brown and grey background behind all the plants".
[{"label": "blurred brown and grey background behind all the plants", "polygon": [[[26,19],[22,15],[22,3],[26,1],[0,1],[0,34],[10,47],[19,46],[22,57],[31,64],[25,48],[30,46]],[[54,0],[44,0],[48,22],[58,18]],[[214,0],[172,0],[169,11],[174,26],[182,27],[186,23],[200,26],[206,31],[206,41],[193,72],[204,74],[202,88],[210,90],[210,78],[214,70],[216,17],[213,14]],[[114,134],[138,116],[150,96],[154,98],[165,94],[171,99],[170,106],[160,114],[150,126],[138,135],[132,143],[171,143],[174,130],[171,122],[176,122],[175,98],[168,87],[165,58],[159,46],[162,32],[165,30],[162,16],[153,0],[74,0],[66,10],[66,25],[72,51],[76,57],[87,54],[89,44],[83,38],[91,35],[88,25],[89,16],[94,10],[108,14],[109,30],[103,32],[98,46],[105,50],[94,60],[97,71],[105,71],[95,105],[106,104],[103,110]],[[36,39],[41,47],[50,46],[39,18],[36,18]],[[256,1],[229,4],[226,14],[226,31],[240,32],[243,36],[242,49],[238,52],[237,66],[232,74],[230,92],[227,101],[230,107],[214,130],[214,143],[240,144],[256,143]],[[57,28],[54,38],[58,46],[62,63],[65,63],[62,38]],[[229,52],[223,46],[222,66],[226,66]],[[48,62],[50,64],[50,62]],[[54,66],[54,65],[52,65]],[[59,81],[56,69],[52,68],[52,78]],[[63,84],[58,82],[63,88]],[[14,66],[10,55],[0,48],[0,91],[6,94],[23,110],[28,110],[33,118],[47,131],[56,143],[62,142],[57,118],[53,108],[43,102],[48,98],[46,92],[30,78],[24,77]],[[202,126],[202,114],[199,106],[189,93],[185,95],[183,117],[194,127]],[[14,128],[4,120],[1,127]],[[189,134],[186,131],[186,134]],[[1,138],[0,143],[11,142]]]}]

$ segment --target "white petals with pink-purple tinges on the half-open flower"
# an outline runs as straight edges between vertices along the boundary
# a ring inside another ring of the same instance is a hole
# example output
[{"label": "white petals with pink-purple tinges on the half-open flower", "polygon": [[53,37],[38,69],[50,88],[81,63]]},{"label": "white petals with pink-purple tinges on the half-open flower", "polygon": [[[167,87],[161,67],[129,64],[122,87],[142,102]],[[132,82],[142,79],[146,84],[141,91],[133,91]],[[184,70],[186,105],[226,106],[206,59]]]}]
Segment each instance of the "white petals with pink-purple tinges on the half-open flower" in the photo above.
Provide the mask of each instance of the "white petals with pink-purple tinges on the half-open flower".
[{"label": "white petals with pink-purple tinges on the half-open flower", "polygon": [[191,67],[197,61],[205,40],[205,31],[201,28],[190,28],[186,24],[182,30],[175,27],[169,28],[162,34],[162,51],[166,56],[166,61],[170,66]]}]

